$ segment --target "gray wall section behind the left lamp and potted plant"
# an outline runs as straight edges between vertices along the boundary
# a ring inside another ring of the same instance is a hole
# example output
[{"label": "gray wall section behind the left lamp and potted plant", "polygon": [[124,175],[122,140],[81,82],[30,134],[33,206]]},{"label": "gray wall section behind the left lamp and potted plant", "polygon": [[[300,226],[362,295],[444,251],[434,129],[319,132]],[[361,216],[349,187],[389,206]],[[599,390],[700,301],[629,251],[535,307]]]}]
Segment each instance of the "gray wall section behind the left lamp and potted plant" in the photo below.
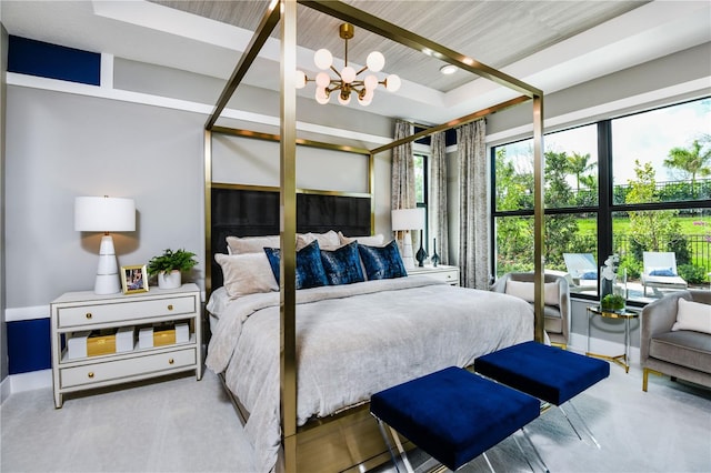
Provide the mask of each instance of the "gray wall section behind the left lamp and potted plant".
[{"label": "gray wall section behind the left lamp and potted plant", "polygon": [[136,232],[114,235],[120,265],[166,248],[202,254],[203,117],[14,85],[7,107],[9,308],[93,288],[101,234],[74,231],[78,195],[136,200]]}]

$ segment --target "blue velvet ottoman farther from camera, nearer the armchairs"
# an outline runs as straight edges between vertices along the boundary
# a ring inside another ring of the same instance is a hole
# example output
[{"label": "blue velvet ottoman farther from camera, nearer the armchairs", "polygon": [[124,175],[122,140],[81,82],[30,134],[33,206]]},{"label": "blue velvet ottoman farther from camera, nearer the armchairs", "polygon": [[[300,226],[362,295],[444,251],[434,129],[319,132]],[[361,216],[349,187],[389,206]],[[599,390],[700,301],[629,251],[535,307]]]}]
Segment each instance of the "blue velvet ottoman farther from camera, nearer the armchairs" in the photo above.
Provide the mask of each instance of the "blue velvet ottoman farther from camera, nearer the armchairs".
[{"label": "blue velvet ottoman farther from camera, nearer the armchairs", "polygon": [[[480,356],[474,360],[474,370],[559,407],[610,375],[610,364],[603,360],[538,342],[524,342]],[[574,409],[572,403],[570,406]],[[561,411],[578,437],[582,440],[565,411]],[[582,416],[580,419],[582,420]],[[599,447],[600,444],[590,429],[584,426]]]}]

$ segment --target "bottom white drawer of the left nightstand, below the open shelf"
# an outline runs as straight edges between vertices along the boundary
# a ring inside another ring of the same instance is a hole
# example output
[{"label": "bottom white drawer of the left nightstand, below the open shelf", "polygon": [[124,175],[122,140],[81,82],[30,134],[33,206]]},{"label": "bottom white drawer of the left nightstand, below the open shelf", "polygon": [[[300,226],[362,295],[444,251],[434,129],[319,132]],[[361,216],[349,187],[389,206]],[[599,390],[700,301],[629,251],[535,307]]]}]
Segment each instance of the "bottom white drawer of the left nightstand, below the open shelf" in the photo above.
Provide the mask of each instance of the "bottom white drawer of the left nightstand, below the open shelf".
[{"label": "bottom white drawer of the left nightstand, below the open shelf", "polygon": [[128,360],[107,361],[60,370],[61,388],[73,388],[82,384],[101,383],[181,366],[194,366],[196,349],[137,356]]}]

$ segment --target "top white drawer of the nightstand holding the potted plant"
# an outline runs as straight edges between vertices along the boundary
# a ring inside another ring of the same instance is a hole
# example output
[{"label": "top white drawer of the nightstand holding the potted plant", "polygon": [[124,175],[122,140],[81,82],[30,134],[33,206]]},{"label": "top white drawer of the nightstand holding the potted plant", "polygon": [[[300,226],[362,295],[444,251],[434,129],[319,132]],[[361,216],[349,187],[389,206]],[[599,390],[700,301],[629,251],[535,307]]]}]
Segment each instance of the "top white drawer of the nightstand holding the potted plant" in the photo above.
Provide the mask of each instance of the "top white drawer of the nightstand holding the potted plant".
[{"label": "top white drawer of the nightstand holding the potted plant", "polygon": [[127,301],[113,304],[81,305],[59,309],[59,328],[82,326],[94,323],[126,322],[162,315],[194,313],[196,298],[167,298]]}]

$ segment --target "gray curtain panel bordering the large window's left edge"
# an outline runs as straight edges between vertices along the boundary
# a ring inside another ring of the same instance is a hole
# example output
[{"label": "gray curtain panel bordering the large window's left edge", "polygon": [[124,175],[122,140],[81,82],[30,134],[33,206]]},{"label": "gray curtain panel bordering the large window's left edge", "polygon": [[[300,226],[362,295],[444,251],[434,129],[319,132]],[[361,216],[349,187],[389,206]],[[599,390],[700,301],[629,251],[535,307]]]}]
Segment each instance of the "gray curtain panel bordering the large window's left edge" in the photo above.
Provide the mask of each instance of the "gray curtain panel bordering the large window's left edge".
[{"label": "gray curtain panel bordering the large window's left edge", "polygon": [[457,129],[460,284],[482,290],[489,289],[490,273],[485,135],[484,120]]}]

